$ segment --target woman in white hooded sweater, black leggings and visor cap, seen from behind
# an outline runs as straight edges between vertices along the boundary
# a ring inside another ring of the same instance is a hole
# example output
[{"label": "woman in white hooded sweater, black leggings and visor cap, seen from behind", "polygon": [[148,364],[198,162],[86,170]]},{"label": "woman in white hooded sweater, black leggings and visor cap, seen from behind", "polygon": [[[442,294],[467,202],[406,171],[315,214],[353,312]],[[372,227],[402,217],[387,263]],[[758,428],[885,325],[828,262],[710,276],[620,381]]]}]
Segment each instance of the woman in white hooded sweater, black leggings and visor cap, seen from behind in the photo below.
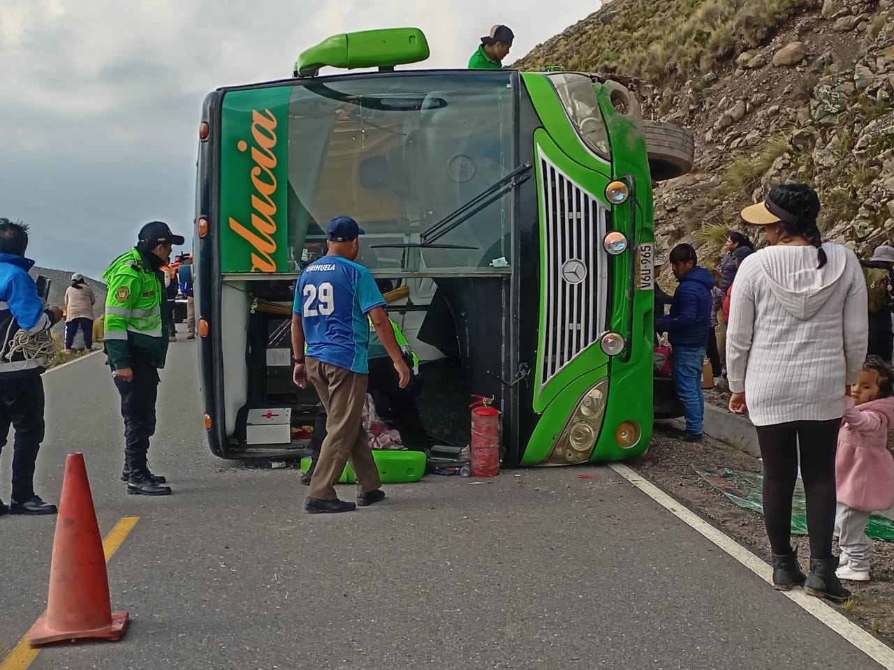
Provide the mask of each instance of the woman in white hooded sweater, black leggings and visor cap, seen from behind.
[{"label": "woman in white hooded sweater, black leggings and visor cap, seen from behind", "polygon": [[[747,412],[763,457],[763,516],[773,585],[848,599],[832,557],[835,451],[848,386],[864,363],[866,287],[854,252],[823,243],[820,200],[805,184],[772,188],[742,219],[763,226],[770,246],[739,266],[730,301],[730,411]],[[797,449],[807,503],[810,574],[792,549]]]}]

